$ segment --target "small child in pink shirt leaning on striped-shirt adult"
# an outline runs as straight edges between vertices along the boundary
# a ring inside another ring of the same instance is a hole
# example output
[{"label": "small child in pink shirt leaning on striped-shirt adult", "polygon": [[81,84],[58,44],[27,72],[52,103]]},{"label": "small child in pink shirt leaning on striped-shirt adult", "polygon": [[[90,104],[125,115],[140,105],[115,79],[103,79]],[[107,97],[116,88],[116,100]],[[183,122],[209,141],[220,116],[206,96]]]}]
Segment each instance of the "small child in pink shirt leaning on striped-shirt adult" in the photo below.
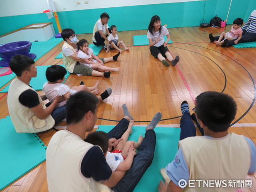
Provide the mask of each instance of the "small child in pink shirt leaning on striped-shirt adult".
[{"label": "small child in pink shirt leaning on striped-shirt adult", "polygon": [[[220,44],[223,44],[224,40],[227,39],[228,41],[231,41],[233,39],[236,39],[235,44],[242,38],[243,30],[241,29],[241,25],[244,23],[244,20],[241,18],[236,18],[233,21],[233,26],[231,27],[231,30],[227,33],[221,33],[218,41],[213,41],[213,43],[218,46]],[[221,39],[224,38],[223,41]]]}]

